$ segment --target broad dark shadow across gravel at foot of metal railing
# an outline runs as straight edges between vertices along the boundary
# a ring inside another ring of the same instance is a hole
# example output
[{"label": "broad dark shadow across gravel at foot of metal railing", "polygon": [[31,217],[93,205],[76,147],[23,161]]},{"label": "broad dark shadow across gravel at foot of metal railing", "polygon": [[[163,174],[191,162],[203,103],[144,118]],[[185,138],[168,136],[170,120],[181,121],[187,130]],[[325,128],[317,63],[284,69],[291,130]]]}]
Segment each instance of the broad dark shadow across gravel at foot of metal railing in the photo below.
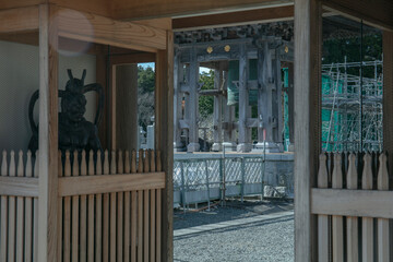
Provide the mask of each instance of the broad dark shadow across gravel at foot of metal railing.
[{"label": "broad dark shadow across gravel at foot of metal railing", "polygon": [[294,210],[293,202],[247,200],[241,203],[241,201],[238,200],[229,200],[226,201],[225,206],[218,204],[213,206],[211,211],[190,210],[184,213],[182,210],[175,210],[174,229],[177,230],[291,210]]}]

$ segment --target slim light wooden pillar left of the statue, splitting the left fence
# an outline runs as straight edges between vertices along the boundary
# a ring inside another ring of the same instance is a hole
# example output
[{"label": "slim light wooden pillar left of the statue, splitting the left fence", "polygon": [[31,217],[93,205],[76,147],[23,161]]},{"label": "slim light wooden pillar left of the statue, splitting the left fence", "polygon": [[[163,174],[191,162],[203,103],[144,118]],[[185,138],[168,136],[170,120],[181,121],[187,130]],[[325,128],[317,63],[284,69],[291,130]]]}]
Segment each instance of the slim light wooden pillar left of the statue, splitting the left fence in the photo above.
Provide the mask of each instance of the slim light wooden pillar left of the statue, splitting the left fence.
[{"label": "slim light wooden pillar left of the statue, splitting the left fence", "polygon": [[57,261],[58,33],[53,8],[39,5],[38,261]]}]

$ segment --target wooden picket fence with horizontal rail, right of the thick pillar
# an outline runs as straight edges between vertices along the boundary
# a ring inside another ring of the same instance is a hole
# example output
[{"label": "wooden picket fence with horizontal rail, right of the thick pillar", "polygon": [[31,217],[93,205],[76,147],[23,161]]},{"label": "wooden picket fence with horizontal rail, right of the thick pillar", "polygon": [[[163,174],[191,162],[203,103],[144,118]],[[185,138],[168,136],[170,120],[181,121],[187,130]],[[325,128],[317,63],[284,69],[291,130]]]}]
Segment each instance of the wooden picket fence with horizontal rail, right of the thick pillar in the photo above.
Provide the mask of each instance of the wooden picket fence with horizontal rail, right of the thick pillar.
[{"label": "wooden picket fence with horizontal rail, right of the thick pillar", "polygon": [[385,154],[321,154],[312,213],[318,214],[319,261],[390,261]]}]

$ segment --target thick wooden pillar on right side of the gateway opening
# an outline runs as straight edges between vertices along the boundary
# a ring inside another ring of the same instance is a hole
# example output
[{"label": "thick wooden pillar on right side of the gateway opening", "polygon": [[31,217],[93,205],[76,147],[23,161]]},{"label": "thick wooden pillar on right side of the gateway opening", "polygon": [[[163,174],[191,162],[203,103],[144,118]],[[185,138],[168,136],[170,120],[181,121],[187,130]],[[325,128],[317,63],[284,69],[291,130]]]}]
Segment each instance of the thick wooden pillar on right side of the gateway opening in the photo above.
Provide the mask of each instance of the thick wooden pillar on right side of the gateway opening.
[{"label": "thick wooden pillar on right side of the gateway opening", "polygon": [[321,3],[295,0],[295,261],[318,261],[317,218],[310,191],[317,187],[321,151]]}]

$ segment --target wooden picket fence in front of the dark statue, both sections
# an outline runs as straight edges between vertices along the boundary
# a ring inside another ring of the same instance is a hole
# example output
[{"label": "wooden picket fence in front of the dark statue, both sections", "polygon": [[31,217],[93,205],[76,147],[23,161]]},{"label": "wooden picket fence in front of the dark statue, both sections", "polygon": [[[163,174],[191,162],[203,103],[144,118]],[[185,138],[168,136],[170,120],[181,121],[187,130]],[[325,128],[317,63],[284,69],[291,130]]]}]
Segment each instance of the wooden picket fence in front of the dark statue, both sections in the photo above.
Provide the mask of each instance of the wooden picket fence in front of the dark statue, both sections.
[{"label": "wooden picket fence in front of the dark statue, both sections", "polygon": [[[57,261],[160,261],[159,152],[67,152],[59,159]],[[37,167],[29,152],[17,162],[13,151],[2,153],[0,261],[37,261]]]}]

